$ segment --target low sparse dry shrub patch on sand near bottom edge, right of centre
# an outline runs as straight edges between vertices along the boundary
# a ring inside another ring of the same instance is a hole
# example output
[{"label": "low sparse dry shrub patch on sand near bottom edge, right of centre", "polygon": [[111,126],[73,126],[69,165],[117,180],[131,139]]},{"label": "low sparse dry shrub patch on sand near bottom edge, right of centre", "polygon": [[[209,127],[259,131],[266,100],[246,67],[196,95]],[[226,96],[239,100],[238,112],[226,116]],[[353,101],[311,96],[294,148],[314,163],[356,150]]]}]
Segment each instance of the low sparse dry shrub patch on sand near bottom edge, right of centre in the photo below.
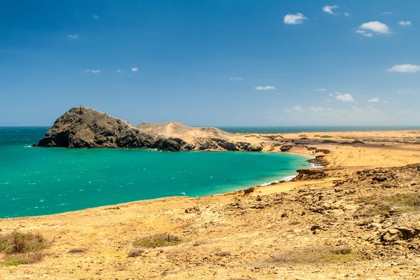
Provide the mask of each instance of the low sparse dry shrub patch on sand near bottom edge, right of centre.
[{"label": "low sparse dry shrub patch on sand near bottom edge, right of centre", "polygon": [[316,264],[322,262],[346,262],[357,256],[347,247],[310,247],[295,251],[283,251],[275,255],[272,262],[279,264]]}]

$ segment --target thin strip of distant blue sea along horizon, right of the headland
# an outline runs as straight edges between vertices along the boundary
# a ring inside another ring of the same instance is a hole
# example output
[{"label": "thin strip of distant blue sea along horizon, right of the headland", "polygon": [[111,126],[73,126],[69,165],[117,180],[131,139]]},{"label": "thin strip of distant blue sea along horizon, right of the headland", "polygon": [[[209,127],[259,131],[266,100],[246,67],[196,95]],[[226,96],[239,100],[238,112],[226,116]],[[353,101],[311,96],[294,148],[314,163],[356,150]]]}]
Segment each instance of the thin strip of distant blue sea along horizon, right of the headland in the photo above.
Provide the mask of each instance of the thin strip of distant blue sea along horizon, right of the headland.
[{"label": "thin strip of distant blue sea along horizon, right of the headland", "polygon": [[296,126],[296,127],[218,127],[226,132],[237,133],[300,133],[300,132],[351,132],[351,131],[379,131],[379,130],[420,130],[420,126]]}]

